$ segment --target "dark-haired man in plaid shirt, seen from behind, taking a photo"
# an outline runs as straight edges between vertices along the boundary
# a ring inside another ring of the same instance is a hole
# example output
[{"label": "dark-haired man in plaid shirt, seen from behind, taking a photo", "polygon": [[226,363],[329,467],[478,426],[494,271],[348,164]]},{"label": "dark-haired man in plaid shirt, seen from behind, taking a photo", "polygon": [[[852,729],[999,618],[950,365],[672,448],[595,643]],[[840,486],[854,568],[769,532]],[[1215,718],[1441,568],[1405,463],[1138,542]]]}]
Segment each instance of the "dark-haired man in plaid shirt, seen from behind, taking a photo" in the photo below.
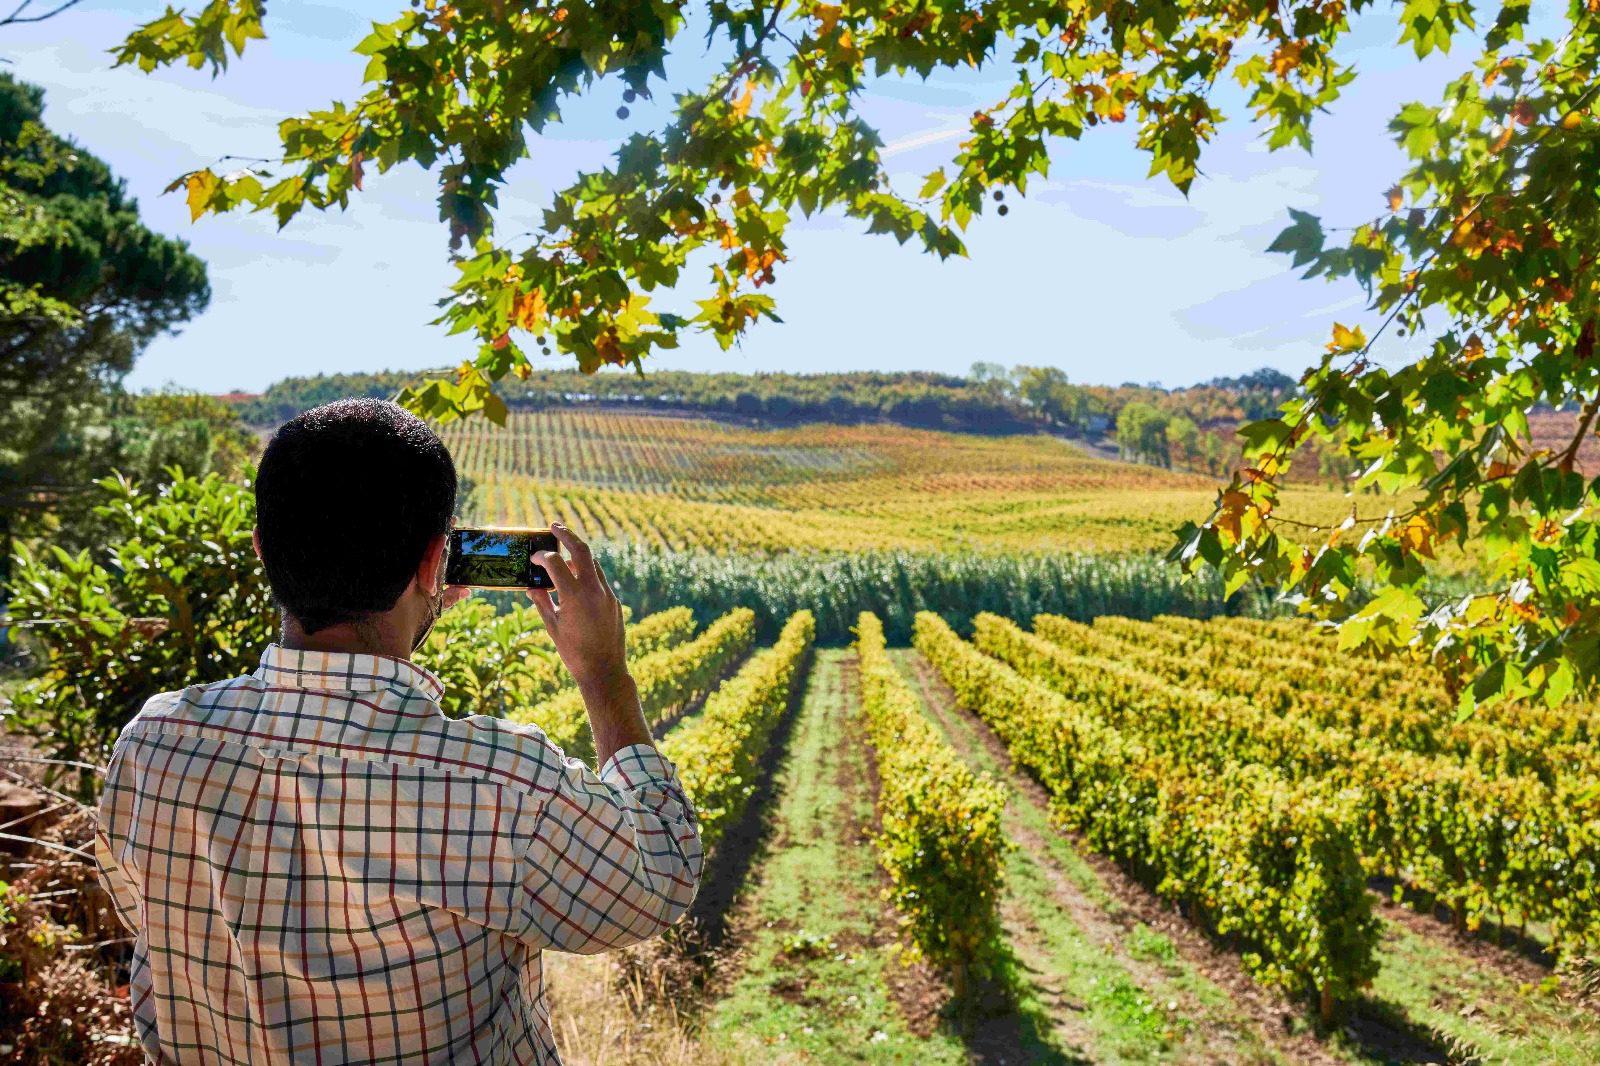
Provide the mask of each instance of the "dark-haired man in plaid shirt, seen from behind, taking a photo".
[{"label": "dark-haired man in plaid shirt, seen from behind, taking a photo", "polygon": [[622,608],[555,527],[530,591],[589,707],[600,771],[534,727],[451,720],[410,661],[446,603],[456,471],[418,418],[330,403],[272,437],[256,554],[282,643],[154,696],[101,795],[101,880],[134,935],[154,1063],[555,1063],[546,948],[658,935],[701,840],[654,747]]}]

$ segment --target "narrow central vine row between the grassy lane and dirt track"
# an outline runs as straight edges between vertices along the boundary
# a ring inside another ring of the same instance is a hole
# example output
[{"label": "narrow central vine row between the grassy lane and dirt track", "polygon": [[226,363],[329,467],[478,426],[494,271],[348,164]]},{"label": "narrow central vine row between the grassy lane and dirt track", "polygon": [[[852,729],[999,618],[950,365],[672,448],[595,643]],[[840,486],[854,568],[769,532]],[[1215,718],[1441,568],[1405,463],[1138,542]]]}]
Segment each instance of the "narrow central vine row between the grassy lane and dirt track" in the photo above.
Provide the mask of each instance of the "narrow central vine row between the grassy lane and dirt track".
[{"label": "narrow central vine row between the grassy lane and dirt track", "polygon": [[914,949],[952,975],[987,976],[1002,946],[1006,789],[973,773],[923,715],[883,647],[883,624],[862,611],[861,706],[878,757],[878,861]]}]

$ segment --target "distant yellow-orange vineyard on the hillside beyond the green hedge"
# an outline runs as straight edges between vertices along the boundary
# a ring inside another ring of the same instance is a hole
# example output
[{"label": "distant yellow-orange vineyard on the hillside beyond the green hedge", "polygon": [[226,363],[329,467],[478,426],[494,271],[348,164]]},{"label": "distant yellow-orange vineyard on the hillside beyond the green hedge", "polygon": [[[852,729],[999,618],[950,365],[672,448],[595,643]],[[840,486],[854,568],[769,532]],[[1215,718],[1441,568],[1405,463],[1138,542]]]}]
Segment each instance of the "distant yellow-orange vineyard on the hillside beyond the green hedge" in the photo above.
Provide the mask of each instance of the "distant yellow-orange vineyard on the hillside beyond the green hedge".
[{"label": "distant yellow-orange vineyard on the hillside beyond the green hedge", "polygon": [[[1210,479],[1099,458],[1043,434],[890,424],[755,429],[611,410],[517,411],[451,427],[469,514],[562,520],[669,551],[1149,549],[1211,503]],[[1349,503],[1296,490],[1301,514]]]}]

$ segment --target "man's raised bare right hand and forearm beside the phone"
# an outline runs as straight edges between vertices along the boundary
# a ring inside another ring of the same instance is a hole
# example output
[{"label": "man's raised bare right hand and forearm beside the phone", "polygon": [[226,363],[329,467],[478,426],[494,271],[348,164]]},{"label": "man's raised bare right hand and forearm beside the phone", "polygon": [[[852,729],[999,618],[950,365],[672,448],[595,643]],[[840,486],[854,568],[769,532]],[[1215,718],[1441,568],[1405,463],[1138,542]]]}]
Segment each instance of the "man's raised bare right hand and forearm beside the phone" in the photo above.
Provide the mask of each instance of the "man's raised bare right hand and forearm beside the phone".
[{"label": "man's raised bare right hand and forearm beside the phone", "polygon": [[589,707],[595,757],[603,767],[616,751],[630,744],[654,744],[654,739],[645,725],[634,677],[627,672],[622,603],[594,552],[576,533],[560,523],[552,523],[550,533],[571,559],[562,559],[560,552],[534,552],[533,562],[550,575],[555,599],[550,599],[549,589],[528,589],[528,599],[539,608],[557,655],[578,682]]}]

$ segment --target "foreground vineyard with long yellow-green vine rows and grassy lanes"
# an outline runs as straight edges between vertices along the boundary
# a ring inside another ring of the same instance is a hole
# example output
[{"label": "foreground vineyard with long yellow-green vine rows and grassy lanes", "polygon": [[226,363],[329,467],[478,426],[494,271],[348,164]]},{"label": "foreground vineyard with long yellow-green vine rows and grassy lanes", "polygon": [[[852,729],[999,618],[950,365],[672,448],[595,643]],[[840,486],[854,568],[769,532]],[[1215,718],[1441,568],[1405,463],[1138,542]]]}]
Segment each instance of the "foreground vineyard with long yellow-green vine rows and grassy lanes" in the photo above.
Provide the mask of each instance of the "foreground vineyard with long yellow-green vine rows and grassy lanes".
[{"label": "foreground vineyard with long yellow-green vine rows and grassy lanes", "polygon": [[[485,627],[534,664],[510,715],[587,754],[531,608],[446,615],[424,661],[482,691],[450,650]],[[579,989],[659,956],[555,962],[574,1061],[966,1061],[917,980],[989,997],[1024,1061],[1600,1056],[1592,709],[1456,722],[1403,666],[1294,621],[979,615],[968,640],[923,613],[899,651],[875,615],[854,629],[816,651],[808,611],[765,648],[747,610],[629,626],[712,880],[738,882],[696,928],[739,951],[670,948],[723,970],[670,1016],[638,991],[643,1037]],[[1125,943],[1091,964],[1107,924]]]}]

